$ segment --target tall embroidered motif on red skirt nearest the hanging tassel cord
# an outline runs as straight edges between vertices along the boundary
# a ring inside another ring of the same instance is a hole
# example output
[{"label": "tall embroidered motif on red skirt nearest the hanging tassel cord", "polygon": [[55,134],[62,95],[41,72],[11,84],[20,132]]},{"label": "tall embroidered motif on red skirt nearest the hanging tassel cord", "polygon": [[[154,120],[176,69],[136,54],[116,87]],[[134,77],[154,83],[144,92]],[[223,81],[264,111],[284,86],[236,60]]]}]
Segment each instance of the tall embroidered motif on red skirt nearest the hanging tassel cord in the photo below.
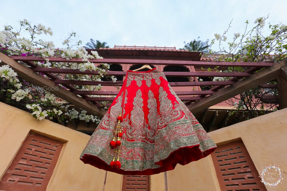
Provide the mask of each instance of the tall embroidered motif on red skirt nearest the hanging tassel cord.
[{"label": "tall embroidered motif on red skirt nearest the hanging tassel cord", "polygon": [[143,140],[144,137],[144,111],[141,90],[137,90],[131,111],[131,126],[127,129],[127,137],[133,140]]}]

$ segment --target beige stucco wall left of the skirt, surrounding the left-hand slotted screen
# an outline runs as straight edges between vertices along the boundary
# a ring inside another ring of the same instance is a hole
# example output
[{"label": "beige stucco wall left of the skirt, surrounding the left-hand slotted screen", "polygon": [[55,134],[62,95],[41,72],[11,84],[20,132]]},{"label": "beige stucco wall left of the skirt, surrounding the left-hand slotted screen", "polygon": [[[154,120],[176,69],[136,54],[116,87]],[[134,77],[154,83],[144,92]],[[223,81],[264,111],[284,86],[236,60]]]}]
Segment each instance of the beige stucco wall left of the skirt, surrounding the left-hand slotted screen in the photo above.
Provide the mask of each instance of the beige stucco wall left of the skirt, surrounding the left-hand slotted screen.
[{"label": "beige stucco wall left of the skirt, surrounding the left-hand slotted screen", "polygon": [[[29,131],[65,142],[47,190],[103,190],[106,171],[79,160],[90,136],[0,102],[0,178],[11,164]],[[105,190],[119,191],[121,175],[109,172]],[[118,189],[117,189],[118,188]]]}]

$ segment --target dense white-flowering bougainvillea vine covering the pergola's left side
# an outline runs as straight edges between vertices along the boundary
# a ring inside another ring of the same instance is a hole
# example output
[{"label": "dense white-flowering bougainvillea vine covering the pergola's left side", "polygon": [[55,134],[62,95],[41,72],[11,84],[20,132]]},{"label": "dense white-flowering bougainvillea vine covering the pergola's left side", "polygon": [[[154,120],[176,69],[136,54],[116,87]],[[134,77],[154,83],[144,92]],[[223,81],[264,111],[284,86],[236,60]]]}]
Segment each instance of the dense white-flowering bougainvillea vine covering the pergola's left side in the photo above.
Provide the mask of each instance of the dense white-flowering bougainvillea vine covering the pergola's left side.
[{"label": "dense white-flowering bougainvillea vine covering the pergola's left side", "polygon": [[[4,29],[0,31],[0,52],[7,56],[42,57],[45,62],[31,62],[39,67],[77,69],[83,72],[83,74],[76,75],[54,74],[60,79],[101,81],[101,78],[106,75],[109,64],[101,64],[100,67],[96,67],[95,64],[89,62],[88,59],[102,59],[102,57],[96,51],[91,51],[91,54],[88,54],[86,49],[80,46],[82,41],[76,39],[75,32],[69,33],[68,37],[63,40],[62,44],[65,48],[56,48],[52,41],[42,40],[43,35],[52,36],[52,29],[42,24],[34,25],[27,19],[19,21],[18,28],[10,25],[4,26]],[[61,57],[66,58],[66,60],[82,58],[83,62],[50,62],[49,57]],[[27,66],[24,62],[20,63]],[[86,70],[98,71],[99,75],[86,75],[84,73]],[[46,75],[41,75],[47,78]],[[117,80],[115,76],[111,76],[111,79],[113,82]],[[17,73],[9,65],[0,66],[0,80],[0,101],[29,111],[38,120],[46,118],[61,124],[73,119],[95,123],[100,121],[98,117],[87,115],[86,111],[75,107],[49,91],[18,78]],[[62,85],[59,86],[66,88]],[[100,90],[102,88],[100,83],[95,86],[71,86],[77,90]]]}]

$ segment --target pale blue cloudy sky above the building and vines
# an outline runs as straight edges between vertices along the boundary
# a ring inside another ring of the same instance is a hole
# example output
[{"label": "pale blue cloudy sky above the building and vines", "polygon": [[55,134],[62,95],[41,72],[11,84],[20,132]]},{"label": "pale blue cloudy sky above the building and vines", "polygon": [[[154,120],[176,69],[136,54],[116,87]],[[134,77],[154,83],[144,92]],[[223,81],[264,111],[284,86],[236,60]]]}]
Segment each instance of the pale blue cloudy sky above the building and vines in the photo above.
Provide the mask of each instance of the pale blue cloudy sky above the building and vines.
[{"label": "pale blue cloudy sky above the building and vines", "polygon": [[[287,25],[287,1],[185,1],[185,0],[105,0],[105,1],[20,1],[0,0],[0,30],[4,25],[18,26],[21,19],[51,27],[53,36],[43,36],[57,47],[74,31],[83,46],[90,38],[107,42],[110,47],[166,46],[183,48],[189,42],[222,34],[233,19],[226,35],[244,32],[245,21],[251,26],[257,17]],[[267,30],[267,27],[266,27]],[[228,40],[227,40],[228,41]]]}]

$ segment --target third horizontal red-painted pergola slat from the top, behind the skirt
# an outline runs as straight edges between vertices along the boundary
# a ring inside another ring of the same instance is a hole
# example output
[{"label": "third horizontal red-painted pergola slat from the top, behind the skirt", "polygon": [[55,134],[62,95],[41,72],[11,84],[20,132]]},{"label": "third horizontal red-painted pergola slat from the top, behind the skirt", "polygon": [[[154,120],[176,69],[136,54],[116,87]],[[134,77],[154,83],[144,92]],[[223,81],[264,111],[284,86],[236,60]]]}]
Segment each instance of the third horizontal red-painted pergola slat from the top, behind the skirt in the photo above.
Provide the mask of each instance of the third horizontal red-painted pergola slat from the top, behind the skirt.
[{"label": "third horizontal red-painted pergola slat from the top, behind the skirt", "polygon": [[[52,79],[52,81],[56,84],[73,84],[73,85],[90,85],[96,86],[101,84],[102,86],[122,86],[123,81],[116,82],[104,82],[104,81],[84,81],[84,80],[60,80],[60,79]],[[227,86],[232,85],[235,82],[232,81],[206,81],[206,82],[168,82],[170,86]]]}]

